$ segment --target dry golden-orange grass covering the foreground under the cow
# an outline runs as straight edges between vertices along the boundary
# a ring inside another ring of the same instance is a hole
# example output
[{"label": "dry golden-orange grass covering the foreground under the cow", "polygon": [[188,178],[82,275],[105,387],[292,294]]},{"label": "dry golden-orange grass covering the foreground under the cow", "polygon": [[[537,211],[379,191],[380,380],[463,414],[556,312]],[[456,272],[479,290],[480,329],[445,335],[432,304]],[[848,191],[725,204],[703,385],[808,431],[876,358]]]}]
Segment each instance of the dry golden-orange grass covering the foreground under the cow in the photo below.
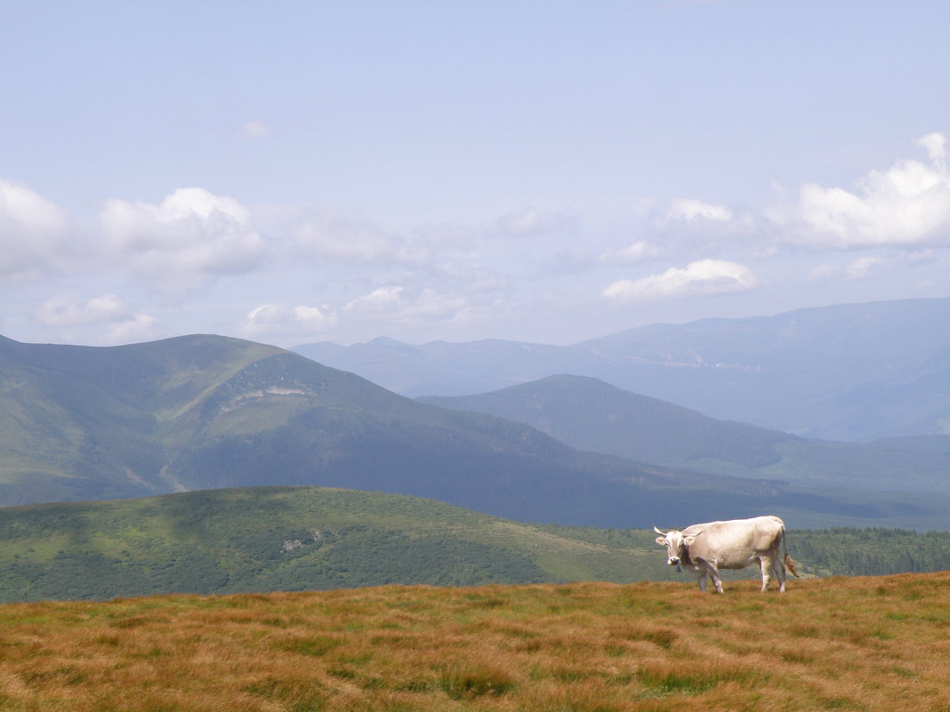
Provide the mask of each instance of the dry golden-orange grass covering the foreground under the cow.
[{"label": "dry golden-orange grass covering the foreground under the cow", "polygon": [[950,572],[0,607],[0,709],[950,710]]}]

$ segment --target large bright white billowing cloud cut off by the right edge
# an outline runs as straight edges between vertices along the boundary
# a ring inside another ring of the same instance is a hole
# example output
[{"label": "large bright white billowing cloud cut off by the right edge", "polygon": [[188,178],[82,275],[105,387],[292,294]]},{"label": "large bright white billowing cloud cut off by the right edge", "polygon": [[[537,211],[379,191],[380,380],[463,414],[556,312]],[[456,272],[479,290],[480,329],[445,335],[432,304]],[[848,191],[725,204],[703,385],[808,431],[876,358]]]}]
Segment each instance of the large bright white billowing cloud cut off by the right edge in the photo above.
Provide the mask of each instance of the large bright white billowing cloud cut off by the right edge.
[{"label": "large bright white billowing cloud cut off by the right edge", "polygon": [[788,237],[815,248],[919,245],[950,241],[950,177],[946,139],[940,133],[916,141],[930,163],[902,160],[871,171],[855,192],[807,183],[790,210],[769,217]]}]

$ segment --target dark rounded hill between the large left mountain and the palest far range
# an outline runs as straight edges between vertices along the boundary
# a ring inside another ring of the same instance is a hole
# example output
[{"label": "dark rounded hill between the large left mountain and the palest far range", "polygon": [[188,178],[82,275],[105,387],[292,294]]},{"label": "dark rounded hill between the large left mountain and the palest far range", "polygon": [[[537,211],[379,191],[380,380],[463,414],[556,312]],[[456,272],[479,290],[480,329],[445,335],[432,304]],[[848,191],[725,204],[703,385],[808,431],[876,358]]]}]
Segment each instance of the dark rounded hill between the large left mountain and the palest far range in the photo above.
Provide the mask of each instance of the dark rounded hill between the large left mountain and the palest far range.
[{"label": "dark rounded hill between the large left mountain and the palest far range", "polygon": [[420,401],[531,425],[581,450],[808,486],[950,495],[950,436],[871,443],[800,438],[641,396],[585,376],[550,376],[476,396]]}]

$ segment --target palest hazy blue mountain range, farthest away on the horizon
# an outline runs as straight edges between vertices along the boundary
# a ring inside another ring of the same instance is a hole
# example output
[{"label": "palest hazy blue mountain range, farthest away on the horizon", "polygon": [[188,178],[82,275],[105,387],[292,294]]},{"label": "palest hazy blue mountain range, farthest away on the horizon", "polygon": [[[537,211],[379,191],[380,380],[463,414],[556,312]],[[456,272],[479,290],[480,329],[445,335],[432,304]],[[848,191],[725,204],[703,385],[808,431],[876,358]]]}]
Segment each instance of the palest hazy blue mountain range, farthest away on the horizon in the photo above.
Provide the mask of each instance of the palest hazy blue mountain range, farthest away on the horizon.
[{"label": "palest hazy blue mountain range, farthest away on the horizon", "polygon": [[413,397],[572,374],[720,420],[826,440],[950,432],[950,299],[654,325],[568,347],[376,339],[295,350]]}]

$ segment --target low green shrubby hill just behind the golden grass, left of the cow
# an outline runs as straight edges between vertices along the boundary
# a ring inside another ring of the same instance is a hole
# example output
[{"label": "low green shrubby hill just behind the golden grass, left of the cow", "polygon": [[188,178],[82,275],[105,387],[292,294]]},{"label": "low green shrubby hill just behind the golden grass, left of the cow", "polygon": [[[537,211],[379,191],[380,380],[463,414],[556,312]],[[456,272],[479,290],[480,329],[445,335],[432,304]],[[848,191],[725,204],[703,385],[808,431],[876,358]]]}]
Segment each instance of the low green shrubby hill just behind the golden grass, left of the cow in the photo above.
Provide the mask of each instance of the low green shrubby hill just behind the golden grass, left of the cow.
[{"label": "low green shrubby hill just behind the golden grass, left of the cow", "polygon": [[572,532],[316,487],[14,507],[0,509],[0,601],[669,576],[649,532]]}]

